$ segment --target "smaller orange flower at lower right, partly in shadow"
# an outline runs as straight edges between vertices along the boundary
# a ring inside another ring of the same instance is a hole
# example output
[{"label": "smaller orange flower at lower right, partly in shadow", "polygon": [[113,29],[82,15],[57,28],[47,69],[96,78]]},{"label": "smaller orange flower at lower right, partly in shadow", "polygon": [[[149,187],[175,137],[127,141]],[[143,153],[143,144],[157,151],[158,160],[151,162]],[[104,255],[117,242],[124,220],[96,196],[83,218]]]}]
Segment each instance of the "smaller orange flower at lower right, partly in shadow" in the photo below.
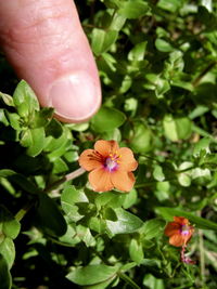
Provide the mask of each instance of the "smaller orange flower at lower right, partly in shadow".
[{"label": "smaller orange flower at lower right, partly in shadow", "polygon": [[169,237],[169,244],[176,247],[186,246],[194,229],[189,220],[183,216],[174,216],[174,222],[166,225],[165,235]]}]

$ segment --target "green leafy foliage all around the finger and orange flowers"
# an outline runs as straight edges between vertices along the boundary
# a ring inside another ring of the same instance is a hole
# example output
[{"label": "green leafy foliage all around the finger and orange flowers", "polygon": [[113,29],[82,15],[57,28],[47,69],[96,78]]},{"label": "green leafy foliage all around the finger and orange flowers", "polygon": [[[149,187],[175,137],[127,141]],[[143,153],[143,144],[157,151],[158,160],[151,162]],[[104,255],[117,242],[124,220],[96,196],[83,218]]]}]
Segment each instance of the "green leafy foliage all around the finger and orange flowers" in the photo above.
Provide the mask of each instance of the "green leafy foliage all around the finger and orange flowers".
[{"label": "green leafy foliage all around the finger and orange flowers", "polygon": [[[0,56],[0,288],[216,288],[217,2],[75,2],[102,83],[89,122],[52,119]],[[129,194],[64,182],[99,139],[135,152]],[[164,236],[174,215],[195,265]]]}]

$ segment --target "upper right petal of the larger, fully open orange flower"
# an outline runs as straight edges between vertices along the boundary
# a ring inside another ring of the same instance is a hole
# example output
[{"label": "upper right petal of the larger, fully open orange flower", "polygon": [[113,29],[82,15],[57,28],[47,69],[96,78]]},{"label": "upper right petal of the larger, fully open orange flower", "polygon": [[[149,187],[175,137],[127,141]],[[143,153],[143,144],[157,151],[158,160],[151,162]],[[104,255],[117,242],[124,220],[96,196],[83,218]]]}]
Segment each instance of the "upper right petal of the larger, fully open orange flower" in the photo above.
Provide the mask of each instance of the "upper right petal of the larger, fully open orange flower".
[{"label": "upper right petal of the larger, fully open orange flower", "polygon": [[126,171],[135,171],[138,167],[138,162],[133,157],[132,150],[128,147],[120,147],[117,154],[119,158],[119,169]]}]

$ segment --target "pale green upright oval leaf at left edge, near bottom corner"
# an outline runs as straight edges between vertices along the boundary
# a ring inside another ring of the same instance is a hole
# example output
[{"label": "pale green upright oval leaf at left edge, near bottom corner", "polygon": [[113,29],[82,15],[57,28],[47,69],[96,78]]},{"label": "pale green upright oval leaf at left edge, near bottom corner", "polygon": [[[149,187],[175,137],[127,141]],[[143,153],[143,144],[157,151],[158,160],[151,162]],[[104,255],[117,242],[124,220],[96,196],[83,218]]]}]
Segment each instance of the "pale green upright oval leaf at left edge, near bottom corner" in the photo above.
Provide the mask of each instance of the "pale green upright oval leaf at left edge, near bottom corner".
[{"label": "pale green upright oval leaf at left edge, near bottom corner", "polygon": [[0,244],[0,254],[3,255],[9,268],[12,267],[15,259],[15,247],[11,238],[5,237]]}]

